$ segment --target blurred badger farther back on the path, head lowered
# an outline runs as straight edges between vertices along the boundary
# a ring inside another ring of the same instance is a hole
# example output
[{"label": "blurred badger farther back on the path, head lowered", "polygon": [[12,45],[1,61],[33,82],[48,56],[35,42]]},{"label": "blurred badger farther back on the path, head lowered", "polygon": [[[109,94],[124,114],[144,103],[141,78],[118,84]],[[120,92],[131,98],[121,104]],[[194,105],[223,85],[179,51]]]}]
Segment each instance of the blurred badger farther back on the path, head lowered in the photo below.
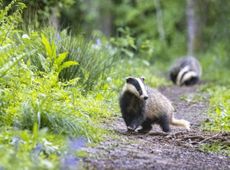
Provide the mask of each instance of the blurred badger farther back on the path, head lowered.
[{"label": "blurred badger farther back on the path, head lowered", "polygon": [[169,77],[178,86],[195,85],[200,81],[201,65],[193,56],[180,58],[171,67]]}]

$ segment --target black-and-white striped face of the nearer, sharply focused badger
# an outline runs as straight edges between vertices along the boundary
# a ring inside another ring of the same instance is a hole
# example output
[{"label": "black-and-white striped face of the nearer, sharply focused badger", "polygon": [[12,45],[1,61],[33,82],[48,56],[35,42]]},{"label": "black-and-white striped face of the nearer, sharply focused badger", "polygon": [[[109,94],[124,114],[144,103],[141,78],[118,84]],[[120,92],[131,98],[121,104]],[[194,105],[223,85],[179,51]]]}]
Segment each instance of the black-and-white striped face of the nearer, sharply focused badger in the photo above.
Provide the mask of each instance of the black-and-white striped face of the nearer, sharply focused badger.
[{"label": "black-and-white striped face of the nearer, sharply focused badger", "polygon": [[126,78],[126,84],[123,91],[130,91],[142,100],[148,99],[148,94],[144,85],[144,78]]}]

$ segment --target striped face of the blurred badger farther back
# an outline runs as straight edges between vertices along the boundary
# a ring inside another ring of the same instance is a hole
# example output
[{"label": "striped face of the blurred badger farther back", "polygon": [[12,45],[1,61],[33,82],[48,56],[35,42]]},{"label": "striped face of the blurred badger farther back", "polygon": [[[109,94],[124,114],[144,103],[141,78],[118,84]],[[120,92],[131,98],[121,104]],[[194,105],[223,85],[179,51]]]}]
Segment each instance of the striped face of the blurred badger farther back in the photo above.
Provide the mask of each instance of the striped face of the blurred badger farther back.
[{"label": "striped face of the blurred badger farther back", "polygon": [[189,66],[185,66],[179,71],[176,84],[179,86],[182,86],[184,84],[189,85],[190,81],[192,84],[196,83],[198,81],[198,75],[195,71],[191,70]]}]

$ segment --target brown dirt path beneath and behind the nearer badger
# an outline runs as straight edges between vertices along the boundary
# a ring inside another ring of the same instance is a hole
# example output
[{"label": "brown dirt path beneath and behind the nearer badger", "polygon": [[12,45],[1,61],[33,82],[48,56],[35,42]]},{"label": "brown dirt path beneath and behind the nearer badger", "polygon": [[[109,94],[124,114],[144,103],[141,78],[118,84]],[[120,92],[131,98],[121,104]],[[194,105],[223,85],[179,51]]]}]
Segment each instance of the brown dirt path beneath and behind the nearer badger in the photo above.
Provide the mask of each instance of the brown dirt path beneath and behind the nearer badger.
[{"label": "brown dirt path beneath and behind the nearer badger", "polygon": [[172,127],[170,134],[162,133],[157,125],[149,134],[128,134],[121,118],[106,128],[115,132],[96,148],[85,148],[89,157],[83,159],[87,169],[230,169],[230,158],[198,150],[198,145],[220,135],[230,140],[229,134],[202,132],[200,124],[207,119],[205,94],[199,95],[197,87],[176,86],[160,91],[172,100],[175,117],[189,120],[192,130]]}]

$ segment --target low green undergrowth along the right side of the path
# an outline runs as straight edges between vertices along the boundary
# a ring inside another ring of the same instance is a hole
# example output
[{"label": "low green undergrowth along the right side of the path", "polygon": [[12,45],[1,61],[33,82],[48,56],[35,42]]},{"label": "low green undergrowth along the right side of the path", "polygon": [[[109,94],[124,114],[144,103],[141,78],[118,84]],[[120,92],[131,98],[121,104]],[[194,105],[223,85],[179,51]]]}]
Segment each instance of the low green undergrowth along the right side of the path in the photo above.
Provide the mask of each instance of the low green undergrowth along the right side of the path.
[{"label": "low green undergrowth along the right side of the path", "polygon": [[[201,90],[209,95],[209,119],[204,122],[203,128],[216,133],[230,132],[230,72],[227,55],[221,46],[216,46],[212,53],[209,52],[201,58],[204,72],[203,79],[206,82],[201,86]],[[201,150],[230,155],[228,143],[205,144],[201,147]]]}]

